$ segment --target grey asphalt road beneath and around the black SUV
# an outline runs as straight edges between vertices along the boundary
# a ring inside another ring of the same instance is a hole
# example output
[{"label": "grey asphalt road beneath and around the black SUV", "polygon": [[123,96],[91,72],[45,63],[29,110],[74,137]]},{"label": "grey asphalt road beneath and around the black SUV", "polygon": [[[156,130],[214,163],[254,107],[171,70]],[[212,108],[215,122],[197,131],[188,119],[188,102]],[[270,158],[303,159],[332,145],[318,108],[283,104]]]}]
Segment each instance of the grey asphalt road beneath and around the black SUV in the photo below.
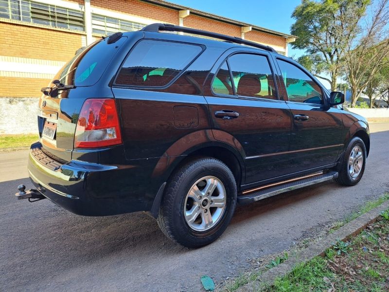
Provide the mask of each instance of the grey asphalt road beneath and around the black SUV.
[{"label": "grey asphalt road beneath and around the black SUV", "polygon": [[0,291],[201,291],[249,260],[287,249],[389,191],[389,124],[373,124],[371,154],[354,187],[327,182],[238,207],[226,232],[197,250],[163,236],[144,213],[81,217],[49,200],[14,197],[26,151],[0,153]]}]

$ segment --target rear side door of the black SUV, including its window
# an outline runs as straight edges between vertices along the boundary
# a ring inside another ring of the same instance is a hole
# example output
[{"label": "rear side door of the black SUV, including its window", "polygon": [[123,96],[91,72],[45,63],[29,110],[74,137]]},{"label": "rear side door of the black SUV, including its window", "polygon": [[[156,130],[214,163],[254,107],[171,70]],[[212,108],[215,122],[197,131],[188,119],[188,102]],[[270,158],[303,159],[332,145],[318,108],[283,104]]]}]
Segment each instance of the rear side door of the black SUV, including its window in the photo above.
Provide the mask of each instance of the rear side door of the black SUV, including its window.
[{"label": "rear side door of the black SUV, including its window", "polygon": [[278,100],[268,57],[239,52],[216,66],[205,91],[214,138],[242,146],[246,184],[288,174],[290,110]]}]

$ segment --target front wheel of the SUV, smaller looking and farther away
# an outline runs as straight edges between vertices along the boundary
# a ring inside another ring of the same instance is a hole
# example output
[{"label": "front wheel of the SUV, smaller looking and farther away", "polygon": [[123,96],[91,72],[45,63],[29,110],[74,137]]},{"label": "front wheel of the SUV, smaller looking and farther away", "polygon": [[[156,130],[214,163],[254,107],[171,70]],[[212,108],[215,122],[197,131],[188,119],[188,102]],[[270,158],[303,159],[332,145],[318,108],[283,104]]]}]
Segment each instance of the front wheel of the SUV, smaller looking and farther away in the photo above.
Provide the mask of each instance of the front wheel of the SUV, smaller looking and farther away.
[{"label": "front wheel of the SUV, smaller looking and farther away", "polygon": [[[361,161],[359,160],[359,158]],[[340,160],[339,175],[336,182],[341,185],[355,185],[363,176],[366,164],[366,147],[362,139],[354,137]]]}]

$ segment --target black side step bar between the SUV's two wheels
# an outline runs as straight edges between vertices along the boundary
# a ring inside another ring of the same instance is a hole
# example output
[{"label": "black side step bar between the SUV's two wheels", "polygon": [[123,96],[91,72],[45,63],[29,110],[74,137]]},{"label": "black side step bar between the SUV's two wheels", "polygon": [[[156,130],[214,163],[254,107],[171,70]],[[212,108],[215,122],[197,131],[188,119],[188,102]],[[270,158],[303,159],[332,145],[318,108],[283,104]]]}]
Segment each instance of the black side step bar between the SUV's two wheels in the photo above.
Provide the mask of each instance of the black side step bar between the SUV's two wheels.
[{"label": "black side step bar between the SUV's two wheels", "polygon": [[[338,176],[338,173],[336,171],[330,171],[325,174],[318,174],[315,176],[311,176],[309,178],[301,178],[301,180],[294,180],[293,182],[290,183],[283,183],[277,186],[273,187],[268,187],[265,189],[261,189],[259,191],[250,193],[250,194],[245,194],[238,196],[238,203],[239,204],[247,204],[255,201],[259,201],[268,197],[272,197],[284,192],[288,192],[291,190],[299,189],[304,186],[308,186],[311,184],[316,184],[316,183],[322,183],[325,181],[330,181],[332,179],[336,179]],[[266,187],[266,186],[264,186]],[[246,193],[249,192],[246,191]]]}]

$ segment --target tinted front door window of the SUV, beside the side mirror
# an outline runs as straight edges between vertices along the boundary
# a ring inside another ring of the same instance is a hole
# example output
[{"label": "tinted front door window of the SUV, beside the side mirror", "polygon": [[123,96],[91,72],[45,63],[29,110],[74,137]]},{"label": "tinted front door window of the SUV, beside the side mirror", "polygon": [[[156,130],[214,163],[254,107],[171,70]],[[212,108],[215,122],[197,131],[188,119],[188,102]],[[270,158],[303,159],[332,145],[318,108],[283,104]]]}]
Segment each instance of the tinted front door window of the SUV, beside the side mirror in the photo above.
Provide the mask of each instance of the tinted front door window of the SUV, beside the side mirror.
[{"label": "tinted front door window of the SUV, beside the side mirror", "polygon": [[277,61],[290,101],[323,104],[321,89],[311,77],[289,62]]}]

